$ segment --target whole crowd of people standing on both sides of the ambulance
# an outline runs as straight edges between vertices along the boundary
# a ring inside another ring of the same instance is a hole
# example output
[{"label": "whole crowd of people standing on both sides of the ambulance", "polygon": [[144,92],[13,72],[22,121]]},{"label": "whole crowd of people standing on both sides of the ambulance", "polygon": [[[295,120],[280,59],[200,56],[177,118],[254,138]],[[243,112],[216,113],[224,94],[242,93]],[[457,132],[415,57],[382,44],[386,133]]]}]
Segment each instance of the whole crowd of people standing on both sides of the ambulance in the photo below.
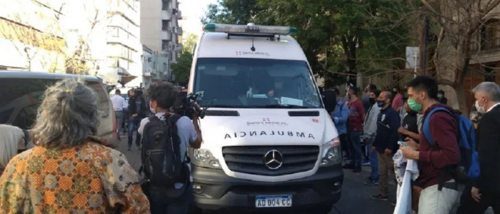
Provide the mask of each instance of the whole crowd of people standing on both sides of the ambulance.
[{"label": "whole crowd of people standing on both sides of the ambulance", "polygon": [[[137,173],[97,135],[98,99],[91,88],[74,79],[49,87],[29,131],[0,125],[0,213],[187,213],[192,187],[186,150],[199,148],[202,138],[197,115],[191,121],[171,112],[176,91],[170,83],[156,82],[146,98],[132,92],[127,104],[119,91],[111,97],[117,118],[125,107],[129,111],[128,149],[137,132],[143,164]],[[418,161],[412,210],[448,214],[459,196],[459,180],[450,169],[466,157],[459,145],[460,120],[448,113],[456,110],[446,105],[435,79],[418,76],[405,90],[370,84],[362,99],[352,85],[343,98],[335,91],[337,105],[330,113],[345,156],[343,168],[371,167],[364,184],[380,186],[371,199],[389,200],[389,180],[396,180],[393,156],[399,153]],[[480,119],[472,118],[478,120],[473,129],[480,175],[464,181],[457,214],[482,214],[488,207],[500,213],[500,88],[483,82],[473,93],[481,113]],[[172,150],[157,153],[160,141]]]}]

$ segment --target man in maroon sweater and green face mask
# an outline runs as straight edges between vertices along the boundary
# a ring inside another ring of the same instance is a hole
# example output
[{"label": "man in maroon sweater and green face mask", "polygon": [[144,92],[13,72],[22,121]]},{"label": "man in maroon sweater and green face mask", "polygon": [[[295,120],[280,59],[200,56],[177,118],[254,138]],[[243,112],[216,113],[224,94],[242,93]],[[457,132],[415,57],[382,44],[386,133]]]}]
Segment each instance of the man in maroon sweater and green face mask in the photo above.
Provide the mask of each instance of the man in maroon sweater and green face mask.
[{"label": "man in maroon sweater and green face mask", "polygon": [[[447,107],[436,101],[437,82],[434,78],[418,76],[407,87],[409,107],[417,112],[423,111],[424,118],[432,108]],[[420,145],[406,138],[408,146],[400,149],[405,158],[418,160],[420,172],[414,183],[422,189],[418,214],[449,214],[458,197],[457,184],[451,174],[453,166],[460,161],[458,126],[445,111],[436,111],[427,119],[436,147],[432,147],[420,132]]]}]

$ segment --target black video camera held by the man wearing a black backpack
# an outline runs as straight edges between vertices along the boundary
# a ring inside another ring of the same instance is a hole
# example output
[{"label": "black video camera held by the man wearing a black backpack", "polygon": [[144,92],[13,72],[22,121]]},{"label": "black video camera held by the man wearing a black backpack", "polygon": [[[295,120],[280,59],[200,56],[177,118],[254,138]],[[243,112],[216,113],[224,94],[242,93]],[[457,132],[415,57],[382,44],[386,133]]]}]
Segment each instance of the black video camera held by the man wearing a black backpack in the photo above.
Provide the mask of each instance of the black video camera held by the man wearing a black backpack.
[{"label": "black video camera held by the man wearing a black backpack", "polygon": [[199,118],[203,119],[205,117],[206,108],[200,108],[194,103],[197,101],[200,94],[187,94],[186,92],[177,92],[177,99],[173,112],[179,115],[187,116],[192,119],[194,113],[198,115]]}]

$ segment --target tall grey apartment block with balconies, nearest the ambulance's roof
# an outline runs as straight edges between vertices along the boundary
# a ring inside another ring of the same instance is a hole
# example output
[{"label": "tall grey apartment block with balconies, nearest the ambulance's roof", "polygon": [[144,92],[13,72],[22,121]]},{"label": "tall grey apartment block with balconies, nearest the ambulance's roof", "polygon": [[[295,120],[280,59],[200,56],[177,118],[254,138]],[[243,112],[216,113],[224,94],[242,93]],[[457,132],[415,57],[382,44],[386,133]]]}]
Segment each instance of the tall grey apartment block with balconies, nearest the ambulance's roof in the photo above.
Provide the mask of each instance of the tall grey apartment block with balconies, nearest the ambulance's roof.
[{"label": "tall grey apartment block with balconies, nearest the ambulance's roof", "polygon": [[177,0],[141,1],[141,43],[160,55],[167,56],[168,69],[159,71],[163,74],[167,73],[166,80],[173,80],[170,65],[177,62],[178,53],[182,50],[179,44],[182,28],[178,24],[178,20],[182,19],[182,14],[178,6]]}]

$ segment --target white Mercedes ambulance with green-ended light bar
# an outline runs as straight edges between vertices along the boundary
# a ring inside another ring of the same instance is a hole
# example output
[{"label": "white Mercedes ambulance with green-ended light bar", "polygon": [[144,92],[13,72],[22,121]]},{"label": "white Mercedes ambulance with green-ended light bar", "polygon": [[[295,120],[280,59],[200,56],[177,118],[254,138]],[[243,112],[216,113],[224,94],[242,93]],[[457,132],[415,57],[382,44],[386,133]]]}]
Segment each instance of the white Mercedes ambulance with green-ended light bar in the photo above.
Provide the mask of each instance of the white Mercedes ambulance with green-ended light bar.
[{"label": "white Mercedes ambulance with green-ended light bar", "polygon": [[208,107],[201,148],[189,149],[192,211],[328,213],[343,182],[340,143],[289,36],[296,29],[250,23],[206,24],[204,31],[188,85]]}]

